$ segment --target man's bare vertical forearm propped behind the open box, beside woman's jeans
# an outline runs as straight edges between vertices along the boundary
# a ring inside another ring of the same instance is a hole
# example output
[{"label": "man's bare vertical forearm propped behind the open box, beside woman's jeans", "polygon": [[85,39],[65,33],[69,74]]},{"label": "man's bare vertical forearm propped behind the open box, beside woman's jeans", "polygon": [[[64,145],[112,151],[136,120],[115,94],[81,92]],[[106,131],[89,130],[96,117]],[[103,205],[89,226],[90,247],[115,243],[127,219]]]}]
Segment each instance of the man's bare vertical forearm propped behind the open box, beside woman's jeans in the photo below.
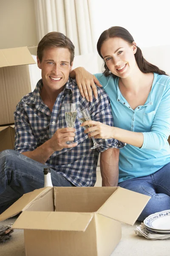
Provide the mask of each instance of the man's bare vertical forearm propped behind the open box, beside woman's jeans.
[{"label": "man's bare vertical forearm propped behind the open box, beside woman's jeans", "polygon": [[102,186],[117,186],[119,178],[119,149],[109,148],[100,153]]}]

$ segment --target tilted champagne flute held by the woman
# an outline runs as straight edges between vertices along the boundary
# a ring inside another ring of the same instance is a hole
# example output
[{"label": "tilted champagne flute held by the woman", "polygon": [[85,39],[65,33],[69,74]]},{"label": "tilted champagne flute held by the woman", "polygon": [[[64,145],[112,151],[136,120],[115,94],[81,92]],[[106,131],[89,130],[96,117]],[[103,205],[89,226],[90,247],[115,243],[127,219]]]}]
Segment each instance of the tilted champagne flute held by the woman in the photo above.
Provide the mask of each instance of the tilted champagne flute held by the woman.
[{"label": "tilted champagne flute held by the woman", "polygon": [[[85,108],[85,109],[83,109],[83,110],[77,111],[77,115],[78,115],[78,119],[79,119],[79,121],[81,122],[81,124],[82,124],[83,122],[85,122],[85,121],[91,120],[91,115],[90,115],[90,113],[89,113],[88,108]],[[85,125],[84,128],[87,129],[87,128],[92,127],[92,126],[93,126],[93,125]],[[91,131],[91,132],[92,132],[92,131]],[[91,133],[91,132],[89,132],[89,133]],[[93,140],[93,142],[94,142],[94,146],[91,147],[91,149],[98,148],[98,147],[101,146],[100,144],[96,143],[96,140],[94,139],[93,136],[92,136],[91,138],[92,138],[92,140]]]}]

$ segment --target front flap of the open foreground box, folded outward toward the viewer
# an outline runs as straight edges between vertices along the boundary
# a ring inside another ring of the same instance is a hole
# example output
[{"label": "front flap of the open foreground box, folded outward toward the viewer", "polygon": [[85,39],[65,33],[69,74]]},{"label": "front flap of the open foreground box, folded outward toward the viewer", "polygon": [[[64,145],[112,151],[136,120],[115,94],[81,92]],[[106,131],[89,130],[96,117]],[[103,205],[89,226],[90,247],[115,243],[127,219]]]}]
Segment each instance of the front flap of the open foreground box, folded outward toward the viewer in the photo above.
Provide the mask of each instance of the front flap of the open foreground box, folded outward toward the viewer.
[{"label": "front flap of the open foreground box, folded outward toward the viewer", "polygon": [[15,221],[13,228],[33,230],[85,231],[94,213],[87,212],[29,212]]}]

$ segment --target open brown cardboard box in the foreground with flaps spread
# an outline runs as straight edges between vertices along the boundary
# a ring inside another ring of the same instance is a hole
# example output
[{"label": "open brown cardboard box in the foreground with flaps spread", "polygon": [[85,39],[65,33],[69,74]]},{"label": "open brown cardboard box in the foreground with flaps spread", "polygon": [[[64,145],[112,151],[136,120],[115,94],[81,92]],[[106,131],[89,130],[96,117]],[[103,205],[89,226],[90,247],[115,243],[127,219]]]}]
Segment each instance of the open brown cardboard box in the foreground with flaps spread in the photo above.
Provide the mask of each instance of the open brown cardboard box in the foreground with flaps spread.
[{"label": "open brown cardboard box in the foreground with flaps spread", "polygon": [[121,222],[133,225],[150,197],[121,187],[46,187],[23,195],[0,215],[22,212],[27,256],[110,256]]}]

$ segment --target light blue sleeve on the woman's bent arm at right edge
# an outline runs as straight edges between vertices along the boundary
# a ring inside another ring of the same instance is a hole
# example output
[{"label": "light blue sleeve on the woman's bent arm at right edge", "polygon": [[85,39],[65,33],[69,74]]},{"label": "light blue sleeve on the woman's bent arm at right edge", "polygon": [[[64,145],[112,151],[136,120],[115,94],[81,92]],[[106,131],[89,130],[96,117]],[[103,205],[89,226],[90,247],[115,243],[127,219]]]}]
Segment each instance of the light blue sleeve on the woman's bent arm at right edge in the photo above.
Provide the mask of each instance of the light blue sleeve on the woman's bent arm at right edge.
[{"label": "light blue sleeve on the woman's bent arm at right edge", "polygon": [[143,132],[142,149],[160,150],[170,135],[170,79],[167,81],[161,102],[156,111],[150,132]]}]

